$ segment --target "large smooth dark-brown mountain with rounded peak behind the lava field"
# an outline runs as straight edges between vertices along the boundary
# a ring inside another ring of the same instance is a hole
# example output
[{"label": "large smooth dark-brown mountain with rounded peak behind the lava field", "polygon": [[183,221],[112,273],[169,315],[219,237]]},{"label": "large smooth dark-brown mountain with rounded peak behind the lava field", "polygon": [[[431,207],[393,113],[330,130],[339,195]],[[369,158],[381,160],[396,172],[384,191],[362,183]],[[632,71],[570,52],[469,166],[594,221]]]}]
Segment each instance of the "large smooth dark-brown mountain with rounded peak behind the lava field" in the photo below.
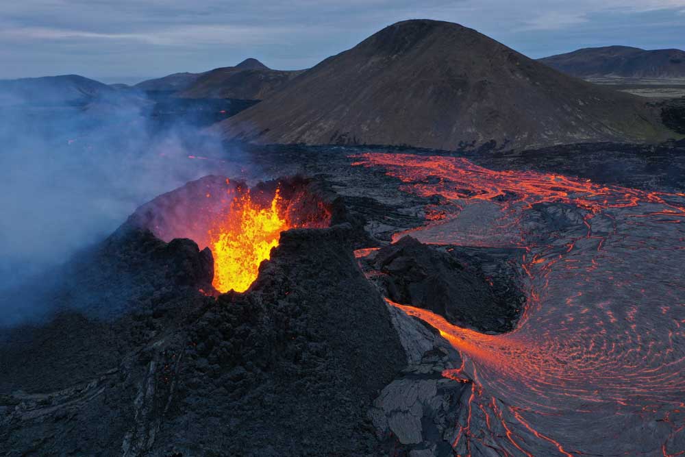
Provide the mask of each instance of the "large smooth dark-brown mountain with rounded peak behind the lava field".
[{"label": "large smooth dark-brown mountain with rounded peak behind the lava field", "polygon": [[213,129],[254,143],[449,150],[667,136],[638,97],[563,75],[473,29],[427,20],[386,27]]}]

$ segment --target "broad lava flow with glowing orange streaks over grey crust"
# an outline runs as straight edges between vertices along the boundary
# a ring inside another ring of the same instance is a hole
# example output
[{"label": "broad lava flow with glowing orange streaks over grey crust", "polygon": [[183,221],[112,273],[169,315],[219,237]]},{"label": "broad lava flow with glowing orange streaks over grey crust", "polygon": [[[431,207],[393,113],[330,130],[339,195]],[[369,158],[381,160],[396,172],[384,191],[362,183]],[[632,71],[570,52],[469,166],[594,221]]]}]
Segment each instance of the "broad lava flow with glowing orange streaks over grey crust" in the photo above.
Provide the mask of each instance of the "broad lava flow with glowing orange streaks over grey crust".
[{"label": "broad lava flow with glowing orange streaks over grey crust", "polygon": [[[462,354],[459,456],[685,455],[685,195],[462,158],[365,153],[401,190],[441,195],[424,243],[525,249],[527,306],[489,335],[393,304]],[[438,214],[438,216],[435,216]],[[398,234],[401,236],[401,234]]]}]

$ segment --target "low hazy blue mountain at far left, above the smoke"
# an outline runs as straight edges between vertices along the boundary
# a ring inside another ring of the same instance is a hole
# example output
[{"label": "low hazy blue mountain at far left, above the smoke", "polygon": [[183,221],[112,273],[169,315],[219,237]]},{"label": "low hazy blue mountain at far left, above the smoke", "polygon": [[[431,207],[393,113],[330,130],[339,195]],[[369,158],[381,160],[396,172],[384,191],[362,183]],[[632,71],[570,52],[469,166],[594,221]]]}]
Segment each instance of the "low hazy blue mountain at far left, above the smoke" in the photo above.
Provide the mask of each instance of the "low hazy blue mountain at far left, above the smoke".
[{"label": "low hazy blue mountain at far left, above the smoke", "polygon": [[107,84],[79,75],[8,79],[0,81],[0,104],[87,103],[115,92]]}]

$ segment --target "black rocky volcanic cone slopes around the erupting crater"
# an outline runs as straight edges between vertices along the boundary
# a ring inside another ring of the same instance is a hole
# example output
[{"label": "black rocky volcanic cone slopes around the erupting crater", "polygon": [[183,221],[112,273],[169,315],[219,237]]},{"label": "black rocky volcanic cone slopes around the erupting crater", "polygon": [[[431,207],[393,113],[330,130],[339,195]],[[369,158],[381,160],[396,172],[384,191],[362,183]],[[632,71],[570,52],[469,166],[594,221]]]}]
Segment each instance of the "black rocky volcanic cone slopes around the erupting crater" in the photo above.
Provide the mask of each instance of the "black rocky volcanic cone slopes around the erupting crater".
[{"label": "black rocky volcanic cone slopes around the erupting crater", "polygon": [[208,251],[125,223],[49,288],[58,314],[0,332],[0,448],[377,455],[367,412],[407,356],[356,230],[284,232],[251,288],[215,301]]}]

